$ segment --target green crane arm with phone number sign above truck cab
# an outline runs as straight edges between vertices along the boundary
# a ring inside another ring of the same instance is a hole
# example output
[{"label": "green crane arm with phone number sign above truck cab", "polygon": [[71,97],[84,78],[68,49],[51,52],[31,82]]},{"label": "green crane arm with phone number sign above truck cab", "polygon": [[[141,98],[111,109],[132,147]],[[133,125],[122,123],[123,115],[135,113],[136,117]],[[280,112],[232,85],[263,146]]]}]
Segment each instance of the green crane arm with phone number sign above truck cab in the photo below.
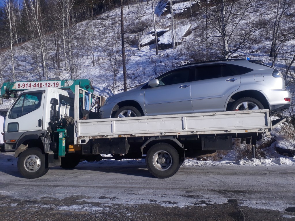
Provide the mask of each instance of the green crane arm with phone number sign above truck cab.
[{"label": "green crane arm with phone number sign above truck cab", "polygon": [[75,85],[93,93],[94,89],[88,79],[79,80],[44,80],[44,81],[15,81],[3,83],[1,87],[1,98],[16,98],[18,91],[32,88],[54,87],[62,90],[71,90],[75,93]]}]

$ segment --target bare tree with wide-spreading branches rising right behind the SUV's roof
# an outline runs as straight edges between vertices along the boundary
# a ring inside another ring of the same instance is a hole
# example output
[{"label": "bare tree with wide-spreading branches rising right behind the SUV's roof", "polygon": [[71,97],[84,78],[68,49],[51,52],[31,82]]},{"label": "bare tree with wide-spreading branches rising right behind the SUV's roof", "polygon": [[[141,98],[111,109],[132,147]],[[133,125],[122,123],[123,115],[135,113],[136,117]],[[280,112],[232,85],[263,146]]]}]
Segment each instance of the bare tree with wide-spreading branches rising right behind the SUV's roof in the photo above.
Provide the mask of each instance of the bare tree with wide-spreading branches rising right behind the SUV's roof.
[{"label": "bare tree with wide-spreading branches rising right behind the SUV's roof", "polygon": [[[205,3],[197,1],[201,11],[206,15],[206,19],[217,34],[209,37],[221,39],[222,47],[216,49],[222,52],[224,59],[249,45],[253,34],[261,28],[261,26],[258,28],[255,25],[248,25],[248,29],[240,28],[240,23],[245,19],[247,11],[255,4],[261,4],[260,2],[253,4],[253,2],[253,0],[212,0],[210,1],[212,6],[207,10],[207,1]],[[239,36],[239,39],[242,38],[242,41],[235,39],[235,36]]]}]

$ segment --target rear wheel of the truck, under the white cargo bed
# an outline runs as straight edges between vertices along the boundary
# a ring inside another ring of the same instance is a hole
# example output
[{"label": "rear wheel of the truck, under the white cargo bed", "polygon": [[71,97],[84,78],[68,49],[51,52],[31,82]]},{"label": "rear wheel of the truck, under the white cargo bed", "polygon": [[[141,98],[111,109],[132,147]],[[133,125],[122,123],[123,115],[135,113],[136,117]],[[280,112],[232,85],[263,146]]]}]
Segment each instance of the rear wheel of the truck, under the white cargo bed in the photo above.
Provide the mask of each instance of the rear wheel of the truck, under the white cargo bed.
[{"label": "rear wheel of the truck, under the white cargo bed", "polygon": [[181,165],[177,150],[167,143],[153,145],[148,150],[145,162],[150,173],[161,179],[172,177]]}]

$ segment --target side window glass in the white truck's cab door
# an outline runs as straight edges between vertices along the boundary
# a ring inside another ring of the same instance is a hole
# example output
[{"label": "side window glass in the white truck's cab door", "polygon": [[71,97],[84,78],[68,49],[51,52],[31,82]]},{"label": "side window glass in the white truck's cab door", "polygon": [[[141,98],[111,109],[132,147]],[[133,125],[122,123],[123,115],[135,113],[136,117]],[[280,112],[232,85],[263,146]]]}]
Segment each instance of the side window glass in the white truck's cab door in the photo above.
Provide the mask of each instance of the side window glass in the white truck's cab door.
[{"label": "side window glass in the white truck's cab door", "polygon": [[41,99],[42,92],[19,96],[9,113],[9,119],[15,119],[37,110],[40,107]]}]

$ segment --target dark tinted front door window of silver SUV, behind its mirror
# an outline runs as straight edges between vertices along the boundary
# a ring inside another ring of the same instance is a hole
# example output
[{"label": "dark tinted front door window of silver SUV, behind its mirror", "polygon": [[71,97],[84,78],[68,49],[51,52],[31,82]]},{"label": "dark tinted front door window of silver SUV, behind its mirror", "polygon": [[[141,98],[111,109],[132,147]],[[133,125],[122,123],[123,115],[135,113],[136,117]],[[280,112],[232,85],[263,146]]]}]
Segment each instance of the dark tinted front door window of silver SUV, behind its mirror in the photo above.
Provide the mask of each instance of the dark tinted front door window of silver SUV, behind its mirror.
[{"label": "dark tinted front door window of silver SUV, behind its mirror", "polygon": [[158,78],[159,80],[158,86],[179,84],[179,83],[191,81],[189,72],[190,72],[190,68],[182,68],[182,69],[177,69],[177,70],[168,72],[164,76],[160,76]]}]

